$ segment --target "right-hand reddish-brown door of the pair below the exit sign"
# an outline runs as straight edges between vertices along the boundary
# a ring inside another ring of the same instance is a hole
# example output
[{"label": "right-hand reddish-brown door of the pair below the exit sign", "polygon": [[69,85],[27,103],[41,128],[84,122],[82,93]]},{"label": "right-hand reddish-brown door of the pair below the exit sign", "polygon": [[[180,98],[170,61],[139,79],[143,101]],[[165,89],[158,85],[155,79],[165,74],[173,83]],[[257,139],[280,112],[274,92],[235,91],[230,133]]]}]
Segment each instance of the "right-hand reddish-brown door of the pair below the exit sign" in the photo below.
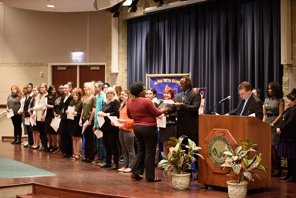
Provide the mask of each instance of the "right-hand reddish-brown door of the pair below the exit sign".
[{"label": "right-hand reddish-brown door of the pair below the exit sign", "polygon": [[79,87],[83,90],[84,82],[103,81],[105,82],[105,65],[100,65],[100,70],[91,70],[88,65],[79,66],[80,77],[79,77]]}]

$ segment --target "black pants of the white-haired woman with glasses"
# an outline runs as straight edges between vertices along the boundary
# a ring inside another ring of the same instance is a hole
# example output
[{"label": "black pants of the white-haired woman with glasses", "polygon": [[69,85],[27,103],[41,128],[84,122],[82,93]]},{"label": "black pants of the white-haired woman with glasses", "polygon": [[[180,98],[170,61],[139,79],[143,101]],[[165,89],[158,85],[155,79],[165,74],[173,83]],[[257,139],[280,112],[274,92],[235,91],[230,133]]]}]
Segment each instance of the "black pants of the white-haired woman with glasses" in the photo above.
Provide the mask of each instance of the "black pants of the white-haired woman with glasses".
[{"label": "black pants of the white-haired woman with glasses", "polygon": [[118,133],[119,128],[116,131],[102,131],[103,141],[106,149],[106,163],[111,164],[113,155],[113,164],[118,165],[119,162],[119,145],[118,145]]}]

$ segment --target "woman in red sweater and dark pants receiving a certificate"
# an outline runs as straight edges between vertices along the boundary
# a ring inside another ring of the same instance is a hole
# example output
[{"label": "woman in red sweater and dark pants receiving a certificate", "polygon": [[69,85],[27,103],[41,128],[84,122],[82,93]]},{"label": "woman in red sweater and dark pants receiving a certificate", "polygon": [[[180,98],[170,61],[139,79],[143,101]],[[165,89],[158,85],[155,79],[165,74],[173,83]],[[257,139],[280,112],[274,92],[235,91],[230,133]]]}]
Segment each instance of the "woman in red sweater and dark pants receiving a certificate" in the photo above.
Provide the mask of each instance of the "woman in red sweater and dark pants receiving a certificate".
[{"label": "woman in red sweater and dark pants receiving a certificate", "polygon": [[130,93],[135,95],[126,104],[127,116],[134,119],[134,134],[138,139],[140,149],[132,166],[132,179],[143,179],[146,169],[145,181],[158,182],[154,178],[154,157],[158,139],[156,117],[167,112],[167,108],[157,109],[149,98],[145,98],[146,89],[142,81],[134,82],[130,86]]}]

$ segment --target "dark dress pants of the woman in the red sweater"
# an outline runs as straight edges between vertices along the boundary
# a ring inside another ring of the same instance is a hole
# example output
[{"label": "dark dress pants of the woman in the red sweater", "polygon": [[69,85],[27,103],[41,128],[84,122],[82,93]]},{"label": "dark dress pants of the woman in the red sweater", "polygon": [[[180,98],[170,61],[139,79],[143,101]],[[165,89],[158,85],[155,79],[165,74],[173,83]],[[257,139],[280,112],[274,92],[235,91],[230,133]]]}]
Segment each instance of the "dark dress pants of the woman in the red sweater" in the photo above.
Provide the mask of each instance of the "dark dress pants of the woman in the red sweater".
[{"label": "dark dress pants of the woman in the red sweater", "polygon": [[132,173],[143,175],[144,168],[147,179],[154,179],[154,161],[158,130],[155,126],[134,125],[134,133],[138,139],[140,149],[137,152]]}]

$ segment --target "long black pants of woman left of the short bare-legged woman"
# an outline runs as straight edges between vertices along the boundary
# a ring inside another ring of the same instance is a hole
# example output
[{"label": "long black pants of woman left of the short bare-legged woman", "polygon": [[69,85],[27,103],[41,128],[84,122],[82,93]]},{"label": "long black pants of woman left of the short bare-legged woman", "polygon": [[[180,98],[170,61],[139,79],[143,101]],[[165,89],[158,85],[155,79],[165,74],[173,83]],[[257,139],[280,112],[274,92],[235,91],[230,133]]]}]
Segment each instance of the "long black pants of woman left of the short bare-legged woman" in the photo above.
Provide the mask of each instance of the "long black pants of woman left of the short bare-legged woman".
[{"label": "long black pants of woman left of the short bare-legged woman", "polygon": [[72,155],[72,145],[73,141],[70,136],[70,122],[68,119],[62,119],[60,126],[61,127],[61,135],[62,135],[62,153]]}]

